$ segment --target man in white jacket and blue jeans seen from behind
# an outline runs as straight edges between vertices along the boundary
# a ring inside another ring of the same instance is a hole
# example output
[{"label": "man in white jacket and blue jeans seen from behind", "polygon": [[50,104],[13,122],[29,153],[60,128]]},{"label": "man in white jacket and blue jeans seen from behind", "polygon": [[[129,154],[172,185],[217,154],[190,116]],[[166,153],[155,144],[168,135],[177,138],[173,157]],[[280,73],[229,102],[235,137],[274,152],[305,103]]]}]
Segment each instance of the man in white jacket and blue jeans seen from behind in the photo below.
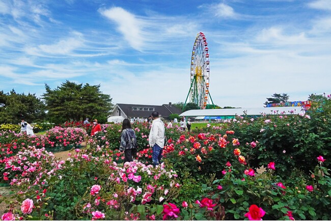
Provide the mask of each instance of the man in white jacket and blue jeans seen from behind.
[{"label": "man in white jacket and blue jeans seen from behind", "polygon": [[148,142],[152,147],[152,160],[154,166],[160,164],[162,158],[162,151],[164,147],[164,123],[159,118],[157,112],[152,113],[153,123],[151,131],[149,132]]}]

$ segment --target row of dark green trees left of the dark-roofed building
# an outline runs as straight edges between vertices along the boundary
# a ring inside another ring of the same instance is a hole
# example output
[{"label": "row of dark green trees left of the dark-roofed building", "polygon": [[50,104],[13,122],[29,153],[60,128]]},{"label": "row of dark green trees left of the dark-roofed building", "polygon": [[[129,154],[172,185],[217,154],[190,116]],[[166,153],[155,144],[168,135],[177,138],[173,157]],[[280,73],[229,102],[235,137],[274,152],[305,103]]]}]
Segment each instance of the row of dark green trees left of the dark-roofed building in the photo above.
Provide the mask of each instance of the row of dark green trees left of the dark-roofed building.
[{"label": "row of dark green trees left of the dark-roofed building", "polygon": [[46,92],[41,98],[36,94],[18,94],[0,91],[0,123],[81,121],[85,118],[98,119],[101,123],[114,107],[110,95],[100,91],[100,85],[75,84],[66,81],[56,89],[45,84]]}]

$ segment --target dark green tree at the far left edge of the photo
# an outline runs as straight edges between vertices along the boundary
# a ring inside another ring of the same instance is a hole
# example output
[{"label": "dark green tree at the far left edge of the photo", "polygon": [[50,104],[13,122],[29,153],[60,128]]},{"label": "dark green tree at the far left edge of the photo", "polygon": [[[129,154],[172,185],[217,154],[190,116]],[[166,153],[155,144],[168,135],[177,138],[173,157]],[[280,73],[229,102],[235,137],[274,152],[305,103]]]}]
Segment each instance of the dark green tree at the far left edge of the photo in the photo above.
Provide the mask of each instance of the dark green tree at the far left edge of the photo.
[{"label": "dark green tree at the far left edge of the photo", "polygon": [[45,104],[36,94],[18,94],[0,92],[0,123],[19,123],[21,117],[27,122],[42,122],[45,120]]}]

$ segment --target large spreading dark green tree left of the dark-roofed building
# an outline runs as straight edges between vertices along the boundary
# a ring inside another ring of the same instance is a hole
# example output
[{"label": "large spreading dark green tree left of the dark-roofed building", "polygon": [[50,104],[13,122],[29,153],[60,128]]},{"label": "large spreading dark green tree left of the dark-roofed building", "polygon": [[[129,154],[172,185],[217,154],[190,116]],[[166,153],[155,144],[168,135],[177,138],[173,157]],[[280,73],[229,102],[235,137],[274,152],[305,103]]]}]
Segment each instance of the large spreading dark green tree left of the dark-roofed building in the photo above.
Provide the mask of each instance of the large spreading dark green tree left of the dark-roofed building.
[{"label": "large spreading dark green tree left of the dark-roofed building", "polygon": [[100,85],[91,86],[66,81],[52,90],[45,85],[43,99],[51,122],[81,121],[86,117],[105,123],[113,108],[112,98],[100,92]]}]

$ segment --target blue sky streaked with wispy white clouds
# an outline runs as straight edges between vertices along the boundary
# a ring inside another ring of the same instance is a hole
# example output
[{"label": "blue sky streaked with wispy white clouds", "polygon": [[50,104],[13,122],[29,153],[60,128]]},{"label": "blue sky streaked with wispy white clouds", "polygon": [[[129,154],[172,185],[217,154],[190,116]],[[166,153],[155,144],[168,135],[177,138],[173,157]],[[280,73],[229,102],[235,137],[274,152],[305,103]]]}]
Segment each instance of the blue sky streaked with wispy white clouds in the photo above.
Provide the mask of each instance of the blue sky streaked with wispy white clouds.
[{"label": "blue sky streaked with wispy white clouds", "polygon": [[113,103],[184,102],[199,32],[219,106],[331,92],[330,0],[0,0],[0,90],[70,80]]}]

